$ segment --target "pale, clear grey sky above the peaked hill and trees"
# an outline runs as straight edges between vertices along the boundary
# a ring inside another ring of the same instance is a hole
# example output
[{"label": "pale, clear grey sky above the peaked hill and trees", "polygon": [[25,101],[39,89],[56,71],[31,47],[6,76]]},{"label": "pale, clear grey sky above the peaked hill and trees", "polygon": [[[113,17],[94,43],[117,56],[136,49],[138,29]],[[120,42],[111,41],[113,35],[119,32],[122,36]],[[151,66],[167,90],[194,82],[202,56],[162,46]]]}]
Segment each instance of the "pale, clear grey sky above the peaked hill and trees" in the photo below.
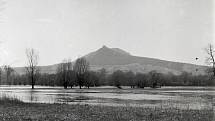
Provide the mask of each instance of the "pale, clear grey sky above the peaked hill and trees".
[{"label": "pale, clear grey sky above the peaked hill and trees", "polygon": [[[106,45],[132,55],[205,65],[215,44],[213,0],[0,0],[0,65],[75,60]],[[195,58],[199,59],[196,60]]]}]

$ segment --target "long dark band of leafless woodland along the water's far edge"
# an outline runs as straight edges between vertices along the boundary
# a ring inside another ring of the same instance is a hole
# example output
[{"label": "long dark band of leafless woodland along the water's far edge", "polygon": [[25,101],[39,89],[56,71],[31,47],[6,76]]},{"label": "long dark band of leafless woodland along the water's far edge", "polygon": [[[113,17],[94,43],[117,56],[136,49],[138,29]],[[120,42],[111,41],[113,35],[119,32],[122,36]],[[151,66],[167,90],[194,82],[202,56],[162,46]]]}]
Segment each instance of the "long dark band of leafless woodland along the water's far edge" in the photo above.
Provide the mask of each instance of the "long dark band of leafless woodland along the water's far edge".
[{"label": "long dark band of leafless woodland along the water's far edge", "polygon": [[[28,73],[16,74],[10,66],[4,66],[0,71],[1,85],[32,85]],[[62,86],[73,88],[96,87],[96,86],[130,86],[131,88],[159,88],[162,86],[215,86],[213,74],[192,75],[182,72],[180,75],[162,74],[157,71],[149,73],[133,73],[117,70],[111,74],[105,69],[90,71],[89,63],[85,58],[79,58],[72,65],[69,60],[64,60],[59,64],[56,73],[35,73],[35,85]]]}]

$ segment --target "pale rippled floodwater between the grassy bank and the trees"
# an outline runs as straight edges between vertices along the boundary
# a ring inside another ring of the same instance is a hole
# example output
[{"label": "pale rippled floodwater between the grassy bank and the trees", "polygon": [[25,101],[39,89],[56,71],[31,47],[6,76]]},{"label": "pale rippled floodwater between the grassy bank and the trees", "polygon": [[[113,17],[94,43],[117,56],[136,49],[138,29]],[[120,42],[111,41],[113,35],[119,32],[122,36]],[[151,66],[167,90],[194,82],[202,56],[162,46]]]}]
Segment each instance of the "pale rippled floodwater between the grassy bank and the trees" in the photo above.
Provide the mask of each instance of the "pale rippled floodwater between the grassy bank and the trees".
[{"label": "pale rippled floodwater between the grassy bank and the trees", "polygon": [[215,106],[215,87],[162,87],[131,89],[93,87],[0,86],[0,97],[17,98],[28,103],[67,103],[108,106],[176,107],[180,109],[211,109]]}]

